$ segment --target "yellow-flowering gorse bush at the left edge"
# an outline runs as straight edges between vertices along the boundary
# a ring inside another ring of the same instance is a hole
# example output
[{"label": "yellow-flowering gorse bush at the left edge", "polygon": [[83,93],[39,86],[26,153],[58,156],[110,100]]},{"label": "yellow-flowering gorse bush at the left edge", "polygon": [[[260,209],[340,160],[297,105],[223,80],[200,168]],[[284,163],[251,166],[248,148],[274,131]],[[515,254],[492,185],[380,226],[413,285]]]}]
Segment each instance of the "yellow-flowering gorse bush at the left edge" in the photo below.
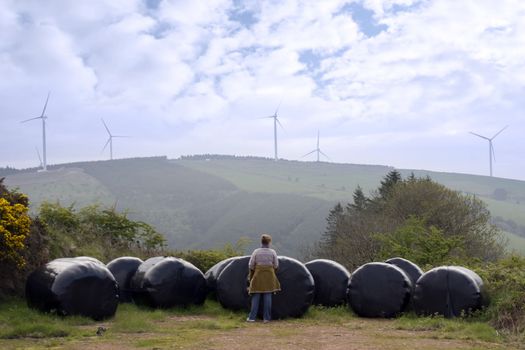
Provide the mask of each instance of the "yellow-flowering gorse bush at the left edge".
[{"label": "yellow-flowering gorse bush at the left edge", "polygon": [[31,226],[27,212],[27,206],[0,198],[0,261],[14,262],[19,268],[25,265],[22,252]]}]

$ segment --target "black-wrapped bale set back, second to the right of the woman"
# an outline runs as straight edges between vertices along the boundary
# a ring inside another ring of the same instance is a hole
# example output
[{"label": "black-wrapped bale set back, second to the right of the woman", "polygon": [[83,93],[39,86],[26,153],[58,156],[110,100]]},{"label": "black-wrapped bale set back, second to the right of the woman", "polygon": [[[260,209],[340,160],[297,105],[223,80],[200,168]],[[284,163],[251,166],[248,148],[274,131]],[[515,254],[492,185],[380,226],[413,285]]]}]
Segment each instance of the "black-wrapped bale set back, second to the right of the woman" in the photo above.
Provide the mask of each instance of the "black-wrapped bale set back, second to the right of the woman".
[{"label": "black-wrapped bale set back, second to the right of the woman", "polygon": [[343,265],[333,260],[317,259],[304,266],[315,281],[313,304],[332,307],[346,303],[350,272]]}]

